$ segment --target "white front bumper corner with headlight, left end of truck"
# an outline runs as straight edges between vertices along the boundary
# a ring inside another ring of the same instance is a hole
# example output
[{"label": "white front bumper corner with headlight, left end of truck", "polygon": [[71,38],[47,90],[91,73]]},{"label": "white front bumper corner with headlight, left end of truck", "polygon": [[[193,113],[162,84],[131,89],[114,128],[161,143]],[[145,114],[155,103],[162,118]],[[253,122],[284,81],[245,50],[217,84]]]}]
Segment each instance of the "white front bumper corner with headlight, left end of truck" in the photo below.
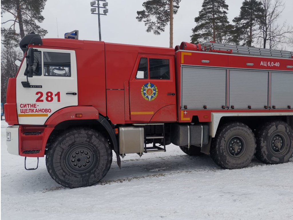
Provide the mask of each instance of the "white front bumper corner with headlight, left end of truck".
[{"label": "white front bumper corner with headlight, left end of truck", "polygon": [[10,154],[19,155],[19,126],[13,125],[6,128],[6,145]]}]

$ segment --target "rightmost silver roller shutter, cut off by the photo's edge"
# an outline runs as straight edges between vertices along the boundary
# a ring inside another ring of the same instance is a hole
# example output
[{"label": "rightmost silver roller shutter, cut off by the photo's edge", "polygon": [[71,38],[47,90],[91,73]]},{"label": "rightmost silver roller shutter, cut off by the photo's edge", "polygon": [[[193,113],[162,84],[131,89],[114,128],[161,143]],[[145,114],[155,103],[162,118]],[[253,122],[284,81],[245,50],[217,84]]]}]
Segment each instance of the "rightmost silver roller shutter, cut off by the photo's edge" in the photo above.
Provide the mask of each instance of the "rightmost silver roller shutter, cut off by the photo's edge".
[{"label": "rightmost silver roller shutter, cut off by the photo's edge", "polygon": [[293,108],[293,72],[272,72],[271,77],[271,107]]}]

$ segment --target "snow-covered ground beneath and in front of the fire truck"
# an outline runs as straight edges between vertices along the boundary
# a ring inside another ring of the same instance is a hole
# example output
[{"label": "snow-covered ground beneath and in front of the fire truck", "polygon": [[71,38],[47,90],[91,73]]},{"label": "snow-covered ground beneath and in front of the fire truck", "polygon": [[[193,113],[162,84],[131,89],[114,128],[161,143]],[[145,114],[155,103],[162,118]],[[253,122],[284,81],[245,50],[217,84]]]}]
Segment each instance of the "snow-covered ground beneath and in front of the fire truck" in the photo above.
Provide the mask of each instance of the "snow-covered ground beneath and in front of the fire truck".
[{"label": "snow-covered ground beneath and in front of the fire truck", "polygon": [[[1,219],[293,219],[293,160],[247,168],[220,169],[203,155],[137,154],[113,164],[91,187],[69,189],[39,168],[24,170],[24,158],[6,149],[1,121]],[[28,165],[36,165],[28,158]]]}]

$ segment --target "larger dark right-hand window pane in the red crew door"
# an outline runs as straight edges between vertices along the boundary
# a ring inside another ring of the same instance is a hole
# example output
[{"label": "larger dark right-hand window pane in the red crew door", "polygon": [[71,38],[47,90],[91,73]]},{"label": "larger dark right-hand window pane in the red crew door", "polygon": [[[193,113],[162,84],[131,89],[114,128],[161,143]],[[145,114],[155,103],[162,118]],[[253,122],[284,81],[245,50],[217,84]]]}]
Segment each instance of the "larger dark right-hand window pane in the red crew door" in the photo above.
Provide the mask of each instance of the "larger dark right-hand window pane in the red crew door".
[{"label": "larger dark right-hand window pane in the red crew door", "polygon": [[150,79],[170,79],[168,59],[149,59]]}]

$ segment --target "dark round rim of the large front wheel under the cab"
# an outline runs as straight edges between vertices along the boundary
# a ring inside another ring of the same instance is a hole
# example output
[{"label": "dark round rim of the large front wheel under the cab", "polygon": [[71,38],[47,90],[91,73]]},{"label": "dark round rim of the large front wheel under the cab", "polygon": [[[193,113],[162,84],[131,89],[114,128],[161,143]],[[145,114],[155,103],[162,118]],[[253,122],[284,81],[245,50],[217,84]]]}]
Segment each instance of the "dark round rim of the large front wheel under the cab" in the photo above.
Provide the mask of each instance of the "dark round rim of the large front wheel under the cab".
[{"label": "dark round rim of the large front wheel under the cab", "polygon": [[76,144],[67,150],[64,162],[70,172],[84,174],[93,169],[97,159],[95,148],[87,144]]}]

